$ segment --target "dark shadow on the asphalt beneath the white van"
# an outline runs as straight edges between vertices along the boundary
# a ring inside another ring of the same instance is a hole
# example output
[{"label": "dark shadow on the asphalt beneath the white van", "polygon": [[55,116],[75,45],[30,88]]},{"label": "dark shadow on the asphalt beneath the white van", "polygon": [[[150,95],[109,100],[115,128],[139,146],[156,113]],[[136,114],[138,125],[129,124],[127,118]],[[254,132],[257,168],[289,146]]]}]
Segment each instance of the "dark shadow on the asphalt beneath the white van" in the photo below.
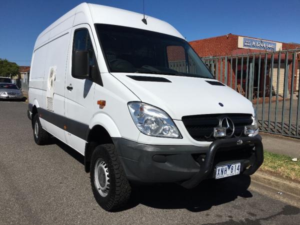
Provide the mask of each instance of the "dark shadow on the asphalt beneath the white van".
[{"label": "dark shadow on the asphalt beneath the white van", "polygon": [[[56,144],[70,156],[84,164],[84,157],[61,142],[51,137],[47,145]],[[186,189],[175,183],[136,184],[132,183],[132,193],[127,205],[117,211],[123,211],[143,204],[160,209],[185,208],[192,212],[205,211],[214,205],[234,201],[238,196],[252,197],[247,190],[251,182],[250,176],[236,175],[222,179],[207,179],[197,187]]]}]

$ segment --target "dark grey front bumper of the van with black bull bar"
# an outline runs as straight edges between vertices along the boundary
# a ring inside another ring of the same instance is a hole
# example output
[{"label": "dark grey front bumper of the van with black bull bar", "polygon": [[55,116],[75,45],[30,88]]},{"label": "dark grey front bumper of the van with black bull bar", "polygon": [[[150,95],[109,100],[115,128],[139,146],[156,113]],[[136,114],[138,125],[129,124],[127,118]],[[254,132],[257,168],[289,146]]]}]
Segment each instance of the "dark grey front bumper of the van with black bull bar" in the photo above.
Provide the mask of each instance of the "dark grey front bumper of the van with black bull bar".
[{"label": "dark grey front bumper of the van with black bull bar", "polygon": [[261,137],[218,139],[209,147],[194,145],[149,145],[113,138],[129,180],[159,183],[179,182],[186,188],[214,176],[217,165],[241,162],[243,174],[253,174],[263,162]]}]

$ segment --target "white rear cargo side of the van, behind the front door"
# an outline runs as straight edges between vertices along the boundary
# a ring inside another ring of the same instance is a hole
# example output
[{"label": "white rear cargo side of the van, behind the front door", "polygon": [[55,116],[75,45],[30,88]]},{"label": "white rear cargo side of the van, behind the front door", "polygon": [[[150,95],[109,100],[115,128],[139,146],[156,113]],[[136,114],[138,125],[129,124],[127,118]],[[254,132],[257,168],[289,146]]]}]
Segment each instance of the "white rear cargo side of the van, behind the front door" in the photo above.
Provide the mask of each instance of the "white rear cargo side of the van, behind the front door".
[{"label": "white rear cargo side of the van, behind the front door", "polygon": [[[29,102],[35,99],[40,108],[47,109],[48,77],[50,69],[55,68],[51,111],[61,116],[64,116],[65,72],[74,13],[75,10],[66,13],[37,37],[31,63]],[[40,119],[40,122],[45,130],[66,142],[62,127],[55,126],[44,119]]]}]

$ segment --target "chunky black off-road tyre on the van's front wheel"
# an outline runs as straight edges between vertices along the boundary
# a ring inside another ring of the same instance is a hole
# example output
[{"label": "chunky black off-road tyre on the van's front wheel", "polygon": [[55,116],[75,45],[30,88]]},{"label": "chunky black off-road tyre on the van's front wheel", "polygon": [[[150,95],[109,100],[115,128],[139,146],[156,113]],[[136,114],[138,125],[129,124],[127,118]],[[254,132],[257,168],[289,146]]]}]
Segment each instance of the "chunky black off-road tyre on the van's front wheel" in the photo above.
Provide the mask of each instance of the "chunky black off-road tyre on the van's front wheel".
[{"label": "chunky black off-road tyre on the van's front wheel", "polygon": [[[95,165],[96,162],[101,160],[105,162],[105,168],[107,169],[105,171],[108,172],[109,189],[106,196],[100,194],[100,190],[95,184]],[[91,155],[90,184],[96,201],[106,211],[124,207],[130,198],[131,186],[113,144],[101,144],[95,147]]]}]

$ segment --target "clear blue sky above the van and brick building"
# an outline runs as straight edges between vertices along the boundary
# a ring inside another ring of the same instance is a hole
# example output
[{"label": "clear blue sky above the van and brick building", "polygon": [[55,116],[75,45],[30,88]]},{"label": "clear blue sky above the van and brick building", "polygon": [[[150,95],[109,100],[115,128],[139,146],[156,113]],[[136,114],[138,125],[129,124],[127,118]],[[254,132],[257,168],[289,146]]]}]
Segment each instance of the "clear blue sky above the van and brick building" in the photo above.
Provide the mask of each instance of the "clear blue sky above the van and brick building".
[{"label": "clear blue sky above the van and brick building", "polygon": [[[82,0],[0,0],[0,58],[30,65],[37,35]],[[142,12],[142,0],[90,0]],[[234,33],[300,43],[300,0],[145,0],[186,39]]]}]

